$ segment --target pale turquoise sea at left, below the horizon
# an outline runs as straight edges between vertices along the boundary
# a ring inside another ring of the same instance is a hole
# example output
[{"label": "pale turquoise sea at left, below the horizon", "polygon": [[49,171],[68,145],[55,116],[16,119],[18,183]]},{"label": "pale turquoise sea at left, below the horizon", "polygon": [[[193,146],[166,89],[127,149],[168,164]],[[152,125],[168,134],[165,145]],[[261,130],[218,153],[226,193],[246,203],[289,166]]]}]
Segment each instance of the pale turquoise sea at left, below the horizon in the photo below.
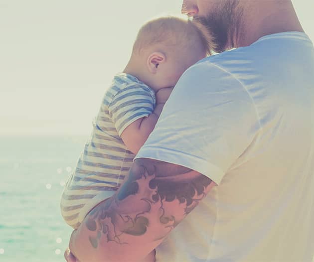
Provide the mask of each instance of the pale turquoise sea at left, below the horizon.
[{"label": "pale turquoise sea at left, below the horizon", "polygon": [[64,262],[59,208],[87,137],[0,137],[0,262]]}]

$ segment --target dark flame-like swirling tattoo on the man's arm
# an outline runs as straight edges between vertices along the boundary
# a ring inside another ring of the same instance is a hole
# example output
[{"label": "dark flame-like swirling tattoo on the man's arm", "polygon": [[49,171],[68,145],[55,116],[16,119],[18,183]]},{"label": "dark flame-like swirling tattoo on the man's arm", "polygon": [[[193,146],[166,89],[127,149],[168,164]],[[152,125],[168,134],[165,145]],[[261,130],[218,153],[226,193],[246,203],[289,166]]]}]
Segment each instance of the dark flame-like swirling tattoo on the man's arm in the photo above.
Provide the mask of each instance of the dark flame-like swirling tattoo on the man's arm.
[{"label": "dark flame-like swirling tattoo on the man's arm", "polygon": [[134,236],[162,240],[206,196],[211,182],[185,167],[137,159],[119,191],[85,218],[90,244],[125,245]]}]

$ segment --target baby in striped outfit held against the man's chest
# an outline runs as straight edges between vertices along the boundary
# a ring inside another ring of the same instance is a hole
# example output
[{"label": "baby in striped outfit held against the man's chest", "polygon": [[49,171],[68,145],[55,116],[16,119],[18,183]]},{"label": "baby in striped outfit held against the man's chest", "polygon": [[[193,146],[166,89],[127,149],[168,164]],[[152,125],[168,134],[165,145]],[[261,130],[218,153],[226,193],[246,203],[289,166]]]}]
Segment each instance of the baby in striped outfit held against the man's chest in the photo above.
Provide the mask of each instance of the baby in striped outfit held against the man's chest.
[{"label": "baby in striped outfit held against the man's chest", "polygon": [[123,73],[107,89],[90,139],[61,197],[61,213],[77,229],[89,211],[111,197],[153,131],[172,87],[210,53],[210,36],[192,21],[167,16],[139,31]]}]

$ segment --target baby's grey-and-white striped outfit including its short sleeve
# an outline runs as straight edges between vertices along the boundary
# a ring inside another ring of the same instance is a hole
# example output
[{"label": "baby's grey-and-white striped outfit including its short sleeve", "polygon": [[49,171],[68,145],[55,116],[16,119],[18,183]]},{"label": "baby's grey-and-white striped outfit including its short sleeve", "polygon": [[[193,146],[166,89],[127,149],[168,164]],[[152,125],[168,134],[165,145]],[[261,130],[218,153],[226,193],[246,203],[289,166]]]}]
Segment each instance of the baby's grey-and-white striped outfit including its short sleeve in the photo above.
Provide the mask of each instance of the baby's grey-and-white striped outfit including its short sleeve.
[{"label": "baby's grey-and-white striped outfit including its short sleeve", "polygon": [[93,207],[119,188],[135,157],[120,136],[130,124],[151,115],[155,104],[155,92],[136,77],[115,76],[61,196],[61,214],[68,225],[76,229]]}]

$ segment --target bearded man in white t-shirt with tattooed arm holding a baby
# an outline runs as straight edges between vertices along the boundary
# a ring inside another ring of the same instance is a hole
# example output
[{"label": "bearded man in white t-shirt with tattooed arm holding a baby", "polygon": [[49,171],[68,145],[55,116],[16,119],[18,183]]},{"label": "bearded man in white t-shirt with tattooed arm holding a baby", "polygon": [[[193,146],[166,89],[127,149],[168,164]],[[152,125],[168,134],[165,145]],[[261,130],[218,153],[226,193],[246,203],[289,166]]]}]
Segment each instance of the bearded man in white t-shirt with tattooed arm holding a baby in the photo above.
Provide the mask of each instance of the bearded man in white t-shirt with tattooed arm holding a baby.
[{"label": "bearded man in white t-shirt with tattooed arm holding a baby", "polygon": [[81,262],[154,249],[160,262],[312,261],[314,48],[292,2],[182,10],[214,32],[218,52],[238,49],[183,74],[129,177],[70,250]]}]

